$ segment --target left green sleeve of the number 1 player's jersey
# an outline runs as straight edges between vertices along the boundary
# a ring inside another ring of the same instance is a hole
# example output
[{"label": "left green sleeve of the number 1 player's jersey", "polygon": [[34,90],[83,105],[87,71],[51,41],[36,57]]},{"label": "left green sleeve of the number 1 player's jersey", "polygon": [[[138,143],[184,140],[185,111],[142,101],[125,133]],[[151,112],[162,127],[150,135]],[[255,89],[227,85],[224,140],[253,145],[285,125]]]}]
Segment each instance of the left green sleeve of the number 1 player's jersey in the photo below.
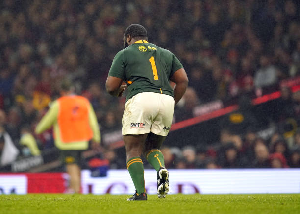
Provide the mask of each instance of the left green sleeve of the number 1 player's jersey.
[{"label": "left green sleeve of the number 1 player's jersey", "polygon": [[125,79],[125,62],[123,58],[123,50],[119,51],[113,59],[108,76]]}]

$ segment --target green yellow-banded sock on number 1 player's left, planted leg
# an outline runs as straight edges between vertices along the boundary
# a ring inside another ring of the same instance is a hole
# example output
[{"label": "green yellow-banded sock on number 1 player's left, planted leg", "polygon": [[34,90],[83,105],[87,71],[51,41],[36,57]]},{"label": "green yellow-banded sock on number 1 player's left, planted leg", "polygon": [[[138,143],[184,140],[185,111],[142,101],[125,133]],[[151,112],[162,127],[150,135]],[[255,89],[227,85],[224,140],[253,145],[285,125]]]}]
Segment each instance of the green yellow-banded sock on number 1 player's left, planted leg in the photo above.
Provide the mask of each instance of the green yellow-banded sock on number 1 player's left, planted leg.
[{"label": "green yellow-banded sock on number 1 player's left, planted leg", "polygon": [[133,157],[127,162],[127,169],[138,194],[145,193],[144,165],[140,157]]}]

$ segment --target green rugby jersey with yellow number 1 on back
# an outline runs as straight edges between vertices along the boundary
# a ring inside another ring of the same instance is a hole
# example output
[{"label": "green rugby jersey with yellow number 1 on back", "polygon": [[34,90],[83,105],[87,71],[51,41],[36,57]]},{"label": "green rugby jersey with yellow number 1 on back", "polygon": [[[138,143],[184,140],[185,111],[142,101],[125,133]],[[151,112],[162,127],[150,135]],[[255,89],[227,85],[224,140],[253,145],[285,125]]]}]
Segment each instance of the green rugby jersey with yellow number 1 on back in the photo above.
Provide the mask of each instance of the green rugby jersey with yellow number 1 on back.
[{"label": "green rugby jersey with yellow number 1 on back", "polygon": [[141,92],[155,92],[173,97],[169,79],[182,64],[169,50],[139,40],[119,51],[108,76],[127,82],[126,101]]}]

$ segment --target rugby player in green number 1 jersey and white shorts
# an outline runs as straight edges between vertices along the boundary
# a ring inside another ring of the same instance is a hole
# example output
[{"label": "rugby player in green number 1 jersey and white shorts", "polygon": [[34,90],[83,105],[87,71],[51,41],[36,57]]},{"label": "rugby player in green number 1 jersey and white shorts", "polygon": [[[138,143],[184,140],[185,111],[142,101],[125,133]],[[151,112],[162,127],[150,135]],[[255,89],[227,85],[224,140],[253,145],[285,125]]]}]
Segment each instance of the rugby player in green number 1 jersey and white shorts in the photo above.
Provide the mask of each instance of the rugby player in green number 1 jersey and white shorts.
[{"label": "rugby player in green number 1 jersey and white shorts", "polygon": [[[171,128],[174,106],[183,96],[188,78],[173,53],[148,42],[142,25],[128,26],[123,40],[125,49],[113,59],[106,91],[116,97],[128,91],[122,134],[136,192],[127,200],[147,200],[142,154],[157,171],[157,195],[164,198],[169,192],[169,172],[159,148]],[[170,80],[176,84],[173,89]]]}]

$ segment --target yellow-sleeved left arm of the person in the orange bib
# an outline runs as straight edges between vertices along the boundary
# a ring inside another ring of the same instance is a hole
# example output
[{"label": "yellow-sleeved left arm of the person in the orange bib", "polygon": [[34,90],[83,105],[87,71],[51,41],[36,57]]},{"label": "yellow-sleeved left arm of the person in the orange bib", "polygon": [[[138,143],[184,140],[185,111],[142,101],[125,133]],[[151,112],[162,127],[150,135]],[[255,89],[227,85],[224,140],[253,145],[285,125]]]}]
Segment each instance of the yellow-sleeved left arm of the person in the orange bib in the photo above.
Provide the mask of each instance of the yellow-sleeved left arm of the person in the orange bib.
[{"label": "yellow-sleeved left arm of the person in the orange bib", "polygon": [[48,112],[44,115],[42,120],[36,126],[35,133],[40,134],[54,124],[54,122],[57,120],[58,108],[58,101],[54,101],[51,104]]}]

